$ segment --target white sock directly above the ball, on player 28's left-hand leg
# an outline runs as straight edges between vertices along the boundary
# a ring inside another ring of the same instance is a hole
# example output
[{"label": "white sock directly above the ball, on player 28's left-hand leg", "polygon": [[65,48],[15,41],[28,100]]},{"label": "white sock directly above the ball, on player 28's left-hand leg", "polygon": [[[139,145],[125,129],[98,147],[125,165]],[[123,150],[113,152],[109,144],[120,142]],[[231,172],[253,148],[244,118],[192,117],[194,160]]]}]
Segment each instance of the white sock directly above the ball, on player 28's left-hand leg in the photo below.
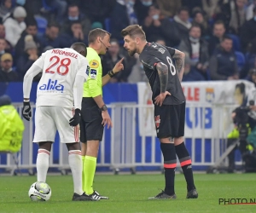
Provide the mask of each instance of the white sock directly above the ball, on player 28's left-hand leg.
[{"label": "white sock directly above the ball, on player 28's left-hand leg", "polygon": [[43,148],[38,149],[37,171],[38,181],[46,182],[46,175],[49,168],[49,151]]}]

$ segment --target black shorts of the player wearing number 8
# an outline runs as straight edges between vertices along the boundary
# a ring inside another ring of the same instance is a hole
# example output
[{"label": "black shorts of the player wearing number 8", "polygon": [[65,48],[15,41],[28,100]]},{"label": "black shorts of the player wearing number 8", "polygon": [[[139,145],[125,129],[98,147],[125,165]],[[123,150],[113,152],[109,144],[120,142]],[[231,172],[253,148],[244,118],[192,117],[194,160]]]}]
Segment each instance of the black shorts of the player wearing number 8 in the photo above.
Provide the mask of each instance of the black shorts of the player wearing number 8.
[{"label": "black shorts of the player wearing number 8", "polygon": [[154,124],[158,138],[184,135],[186,103],[154,106]]}]

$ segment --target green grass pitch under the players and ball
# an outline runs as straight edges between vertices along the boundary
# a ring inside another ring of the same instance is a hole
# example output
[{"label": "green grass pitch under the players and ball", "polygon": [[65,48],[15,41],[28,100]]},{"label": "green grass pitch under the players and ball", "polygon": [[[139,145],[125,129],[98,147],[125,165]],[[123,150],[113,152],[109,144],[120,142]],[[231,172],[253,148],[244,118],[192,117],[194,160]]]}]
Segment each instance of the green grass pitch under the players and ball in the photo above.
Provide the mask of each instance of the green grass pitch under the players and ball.
[{"label": "green grass pitch under the players and ball", "polygon": [[176,176],[175,200],[148,200],[163,188],[163,175],[96,175],[94,187],[109,200],[73,202],[72,176],[48,176],[52,196],[32,202],[28,189],[36,176],[0,176],[0,212],[256,212],[255,204],[224,205],[218,199],[256,199],[255,174],[196,174],[199,199],[185,199],[183,175]]}]

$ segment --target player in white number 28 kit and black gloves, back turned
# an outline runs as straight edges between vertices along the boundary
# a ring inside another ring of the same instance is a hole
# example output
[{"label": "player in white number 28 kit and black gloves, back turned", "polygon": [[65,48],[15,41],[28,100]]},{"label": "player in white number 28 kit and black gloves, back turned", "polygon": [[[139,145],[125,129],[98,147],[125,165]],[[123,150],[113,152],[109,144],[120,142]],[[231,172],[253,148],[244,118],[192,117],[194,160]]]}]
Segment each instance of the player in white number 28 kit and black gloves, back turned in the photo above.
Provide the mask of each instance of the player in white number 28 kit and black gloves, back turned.
[{"label": "player in white number 28 kit and black gloves, back turned", "polygon": [[84,81],[88,78],[86,45],[73,43],[71,48],[51,49],[41,55],[26,72],[23,82],[22,115],[32,117],[29,102],[32,79],[42,72],[38,83],[35,112],[35,135],[38,143],[38,181],[46,181],[49,153],[58,130],[66,143],[68,162],[73,174],[73,200],[90,201],[82,190],[82,158],[79,145],[79,121]]}]

